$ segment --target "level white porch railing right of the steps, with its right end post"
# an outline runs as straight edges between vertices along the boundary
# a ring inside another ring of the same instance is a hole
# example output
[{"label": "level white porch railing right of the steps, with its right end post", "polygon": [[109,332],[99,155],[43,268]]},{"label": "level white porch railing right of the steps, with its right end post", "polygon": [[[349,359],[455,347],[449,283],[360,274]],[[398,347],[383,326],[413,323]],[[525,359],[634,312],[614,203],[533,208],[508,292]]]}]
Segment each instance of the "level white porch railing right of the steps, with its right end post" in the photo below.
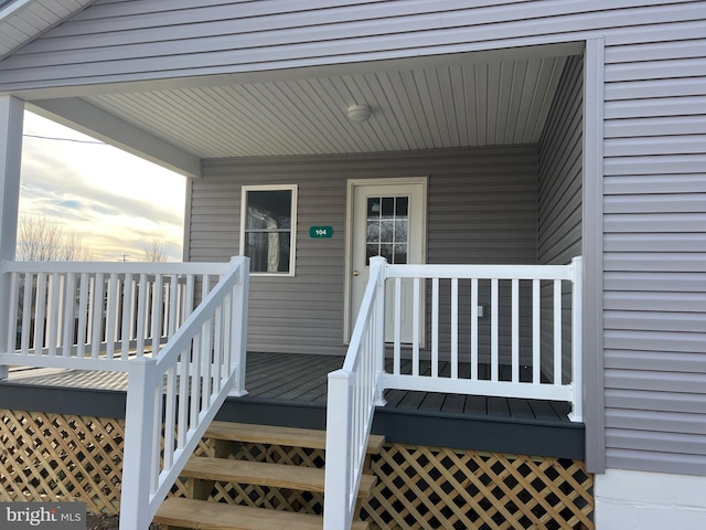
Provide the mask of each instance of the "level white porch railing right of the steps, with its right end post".
[{"label": "level white porch railing right of the steps, with its right end post", "polygon": [[[573,406],[570,418],[580,422],[581,263],[579,256],[569,265],[387,265],[386,277],[394,284],[395,338],[393,372],[385,373],[384,388],[566,401]],[[424,362],[425,337],[415,316],[410,367],[403,373],[405,280],[413,284],[413,300],[424,299],[429,284],[430,344]],[[470,318],[462,324],[464,305]],[[446,332],[440,331],[441,321]],[[442,358],[448,360],[443,374]]]}]

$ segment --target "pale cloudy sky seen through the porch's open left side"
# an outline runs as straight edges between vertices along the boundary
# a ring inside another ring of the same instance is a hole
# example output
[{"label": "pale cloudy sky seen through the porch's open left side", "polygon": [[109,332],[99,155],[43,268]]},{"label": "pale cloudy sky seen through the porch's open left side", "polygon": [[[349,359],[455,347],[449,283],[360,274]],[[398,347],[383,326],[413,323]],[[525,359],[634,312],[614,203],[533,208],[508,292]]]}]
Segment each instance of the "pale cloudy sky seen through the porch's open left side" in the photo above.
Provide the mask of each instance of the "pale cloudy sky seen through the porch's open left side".
[{"label": "pale cloudy sky seen through the porch's open left side", "polygon": [[55,221],[95,261],[143,261],[153,239],[182,261],[184,177],[29,112],[22,144],[20,218]]}]

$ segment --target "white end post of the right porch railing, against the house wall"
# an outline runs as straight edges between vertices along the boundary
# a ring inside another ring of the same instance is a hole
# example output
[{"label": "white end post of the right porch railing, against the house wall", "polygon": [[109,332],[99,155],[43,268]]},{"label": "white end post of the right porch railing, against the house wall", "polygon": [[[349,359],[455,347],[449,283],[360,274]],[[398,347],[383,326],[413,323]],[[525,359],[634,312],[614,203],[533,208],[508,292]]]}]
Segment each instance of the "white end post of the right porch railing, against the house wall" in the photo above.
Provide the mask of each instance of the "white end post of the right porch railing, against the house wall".
[{"label": "white end post of the right porch railing, against the house wall", "polygon": [[584,421],[584,257],[571,259],[571,413],[573,422]]}]

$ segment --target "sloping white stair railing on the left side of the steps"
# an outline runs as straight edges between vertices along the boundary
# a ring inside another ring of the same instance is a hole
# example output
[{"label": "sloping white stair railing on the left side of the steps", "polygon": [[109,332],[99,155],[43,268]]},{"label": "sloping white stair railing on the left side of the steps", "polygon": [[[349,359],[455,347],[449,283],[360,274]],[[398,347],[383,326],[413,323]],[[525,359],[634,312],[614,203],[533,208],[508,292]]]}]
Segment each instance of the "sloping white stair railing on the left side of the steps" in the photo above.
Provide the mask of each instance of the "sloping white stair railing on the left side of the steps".
[{"label": "sloping white stair railing on the left side of the steps", "polygon": [[156,358],[129,361],[120,530],[147,529],[228,394],[244,395],[249,259]]}]

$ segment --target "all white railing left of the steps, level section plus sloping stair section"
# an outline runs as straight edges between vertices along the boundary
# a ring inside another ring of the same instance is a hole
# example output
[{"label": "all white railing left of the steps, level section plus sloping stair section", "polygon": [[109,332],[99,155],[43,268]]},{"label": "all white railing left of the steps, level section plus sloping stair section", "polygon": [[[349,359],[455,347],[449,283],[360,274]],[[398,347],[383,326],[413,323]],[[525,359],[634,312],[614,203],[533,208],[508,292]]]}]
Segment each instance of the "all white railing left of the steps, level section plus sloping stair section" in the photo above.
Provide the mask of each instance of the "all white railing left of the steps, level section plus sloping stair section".
[{"label": "all white railing left of the steps, level section plus sloping stair section", "polygon": [[246,257],[2,264],[0,368],[128,372],[121,530],[149,527],[225,398],[246,393],[248,283]]}]

